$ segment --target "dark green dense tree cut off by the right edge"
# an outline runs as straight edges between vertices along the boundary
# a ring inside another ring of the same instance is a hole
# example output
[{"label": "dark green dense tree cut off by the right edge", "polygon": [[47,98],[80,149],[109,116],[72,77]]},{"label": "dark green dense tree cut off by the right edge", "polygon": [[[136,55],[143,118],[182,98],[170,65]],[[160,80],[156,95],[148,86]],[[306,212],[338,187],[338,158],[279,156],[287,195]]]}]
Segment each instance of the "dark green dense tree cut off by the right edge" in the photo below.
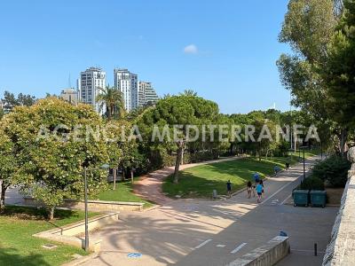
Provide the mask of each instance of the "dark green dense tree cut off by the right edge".
[{"label": "dark green dense tree cut off by the right edge", "polygon": [[343,4],[343,17],[328,45],[322,77],[327,82],[330,97],[327,106],[346,137],[347,131],[355,127],[355,2],[345,0]]}]

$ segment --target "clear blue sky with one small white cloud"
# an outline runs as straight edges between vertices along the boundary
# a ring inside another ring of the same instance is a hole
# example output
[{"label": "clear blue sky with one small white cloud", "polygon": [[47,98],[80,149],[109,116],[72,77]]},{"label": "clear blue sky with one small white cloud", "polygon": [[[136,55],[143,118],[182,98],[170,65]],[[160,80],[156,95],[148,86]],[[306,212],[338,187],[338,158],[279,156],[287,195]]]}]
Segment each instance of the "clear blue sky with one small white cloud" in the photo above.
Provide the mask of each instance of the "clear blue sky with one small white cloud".
[{"label": "clear blue sky with one small white cloud", "polygon": [[185,89],[223,113],[289,109],[275,61],[287,0],[4,1],[0,95],[43,97],[89,66],[127,67],[159,95]]}]

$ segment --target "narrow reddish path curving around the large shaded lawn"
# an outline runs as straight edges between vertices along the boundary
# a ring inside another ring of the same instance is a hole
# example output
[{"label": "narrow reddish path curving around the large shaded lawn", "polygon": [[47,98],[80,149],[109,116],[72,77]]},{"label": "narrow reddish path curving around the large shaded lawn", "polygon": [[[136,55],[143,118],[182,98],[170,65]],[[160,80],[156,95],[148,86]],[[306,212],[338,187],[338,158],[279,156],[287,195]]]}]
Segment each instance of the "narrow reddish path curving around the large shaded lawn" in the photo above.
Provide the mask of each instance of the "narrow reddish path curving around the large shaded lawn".
[{"label": "narrow reddish path curving around the large shaded lawn", "polygon": [[[204,165],[204,164],[220,162],[225,160],[238,160],[241,158],[242,157],[234,156],[234,157],[227,157],[218,160],[208,160],[208,161],[197,162],[197,163],[188,163],[188,164],[181,165],[180,170],[184,170],[186,168],[193,168],[198,165]],[[175,167],[163,168],[160,170],[156,170],[152,173],[149,173],[146,176],[142,176],[140,180],[136,182],[133,186],[134,193],[146,200],[153,201],[159,205],[165,205],[171,202],[172,200],[166,197],[162,193],[162,181],[167,176],[172,175],[174,173],[174,170]]]}]

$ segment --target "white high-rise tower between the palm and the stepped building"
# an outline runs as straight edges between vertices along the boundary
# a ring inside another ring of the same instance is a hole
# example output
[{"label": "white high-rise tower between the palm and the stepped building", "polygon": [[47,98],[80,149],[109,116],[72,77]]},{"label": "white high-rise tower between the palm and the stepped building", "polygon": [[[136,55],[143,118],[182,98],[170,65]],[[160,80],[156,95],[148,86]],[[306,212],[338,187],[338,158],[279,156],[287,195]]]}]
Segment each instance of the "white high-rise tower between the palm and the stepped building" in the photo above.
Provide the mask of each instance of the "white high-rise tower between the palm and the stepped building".
[{"label": "white high-rise tower between the palm and the stepped building", "polygon": [[114,69],[114,88],[123,95],[124,108],[130,112],[138,107],[138,75],[128,69]]}]

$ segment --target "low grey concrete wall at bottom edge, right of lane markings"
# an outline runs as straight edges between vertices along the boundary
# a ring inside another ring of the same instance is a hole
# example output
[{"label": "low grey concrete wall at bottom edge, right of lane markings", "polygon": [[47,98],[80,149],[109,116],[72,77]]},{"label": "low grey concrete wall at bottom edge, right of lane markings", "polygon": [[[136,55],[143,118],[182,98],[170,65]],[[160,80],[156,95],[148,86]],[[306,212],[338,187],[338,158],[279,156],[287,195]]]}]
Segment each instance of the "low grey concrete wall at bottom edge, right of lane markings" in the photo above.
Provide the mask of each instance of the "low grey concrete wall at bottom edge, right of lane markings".
[{"label": "low grey concrete wall at bottom edge, right of lane markings", "polygon": [[288,237],[275,237],[226,266],[271,266],[289,254]]}]

